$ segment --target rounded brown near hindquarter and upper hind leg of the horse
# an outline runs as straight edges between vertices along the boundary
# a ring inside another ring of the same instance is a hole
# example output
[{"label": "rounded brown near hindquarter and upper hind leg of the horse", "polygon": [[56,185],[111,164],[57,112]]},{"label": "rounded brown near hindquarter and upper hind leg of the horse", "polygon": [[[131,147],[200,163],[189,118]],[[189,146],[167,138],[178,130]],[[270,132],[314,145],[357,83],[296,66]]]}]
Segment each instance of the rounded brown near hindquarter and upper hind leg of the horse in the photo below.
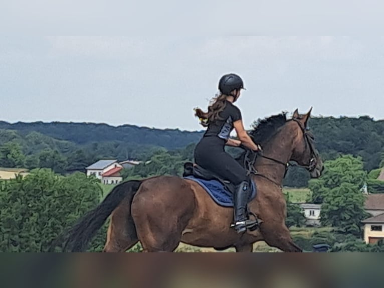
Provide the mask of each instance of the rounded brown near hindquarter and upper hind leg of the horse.
[{"label": "rounded brown near hindquarter and upper hind leg of the horse", "polygon": [[195,209],[183,180],[162,177],[143,182],[132,201],[132,217],[145,252],[173,252]]}]

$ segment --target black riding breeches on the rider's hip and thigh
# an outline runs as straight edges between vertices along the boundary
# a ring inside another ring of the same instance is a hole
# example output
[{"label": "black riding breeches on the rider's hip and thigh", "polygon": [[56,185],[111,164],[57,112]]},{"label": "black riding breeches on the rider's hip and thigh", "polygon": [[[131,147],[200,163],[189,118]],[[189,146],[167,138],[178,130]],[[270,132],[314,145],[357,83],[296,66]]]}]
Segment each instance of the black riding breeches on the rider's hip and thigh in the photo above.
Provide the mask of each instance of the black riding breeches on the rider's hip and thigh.
[{"label": "black riding breeches on the rider's hip and thigh", "polygon": [[203,137],[195,149],[195,163],[235,185],[248,181],[246,170],[225,152],[225,142],[216,136]]}]

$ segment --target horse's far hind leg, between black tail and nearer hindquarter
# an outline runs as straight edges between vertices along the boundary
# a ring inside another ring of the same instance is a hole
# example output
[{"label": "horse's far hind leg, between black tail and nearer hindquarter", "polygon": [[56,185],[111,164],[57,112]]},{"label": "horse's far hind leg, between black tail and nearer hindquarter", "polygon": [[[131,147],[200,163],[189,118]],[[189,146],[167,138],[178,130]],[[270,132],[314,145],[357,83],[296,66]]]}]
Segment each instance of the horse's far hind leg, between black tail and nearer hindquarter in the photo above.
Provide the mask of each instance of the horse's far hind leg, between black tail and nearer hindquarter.
[{"label": "horse's far hind leg, between black tail and nearer hindquarter", "polygon": [[130,208],[124,203],[111,215],[103,252],[125,252],[138,242]]}]

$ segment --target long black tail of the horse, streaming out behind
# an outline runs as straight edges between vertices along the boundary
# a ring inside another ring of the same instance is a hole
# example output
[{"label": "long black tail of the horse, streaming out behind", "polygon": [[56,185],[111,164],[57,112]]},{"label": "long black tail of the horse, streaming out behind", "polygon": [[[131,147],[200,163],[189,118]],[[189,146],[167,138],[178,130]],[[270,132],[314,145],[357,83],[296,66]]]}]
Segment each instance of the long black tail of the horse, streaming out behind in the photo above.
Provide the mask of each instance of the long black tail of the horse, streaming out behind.
[{"label": "long black tail of the horse, streaming out behind", "polygon": [[69,231],[64,251],[83,252],[96,232],[125,197],[132,199],[141,184],[139,180],[124,182],[112,189],[103,202],[85,214]]}]

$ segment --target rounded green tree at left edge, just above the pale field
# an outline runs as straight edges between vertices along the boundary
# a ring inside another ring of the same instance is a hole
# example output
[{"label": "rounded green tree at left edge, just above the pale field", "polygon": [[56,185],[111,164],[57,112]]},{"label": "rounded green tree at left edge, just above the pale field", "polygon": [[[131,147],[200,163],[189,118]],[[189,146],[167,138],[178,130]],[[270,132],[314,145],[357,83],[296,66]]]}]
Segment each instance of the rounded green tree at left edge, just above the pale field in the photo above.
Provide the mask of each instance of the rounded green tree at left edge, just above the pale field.
[{"label": "rounded green tree at left edge, just above the pale field", "polygon": [[7,168],[23,168],[26,157],[18,142],[11,141],[0,147],[0,166]]}]

